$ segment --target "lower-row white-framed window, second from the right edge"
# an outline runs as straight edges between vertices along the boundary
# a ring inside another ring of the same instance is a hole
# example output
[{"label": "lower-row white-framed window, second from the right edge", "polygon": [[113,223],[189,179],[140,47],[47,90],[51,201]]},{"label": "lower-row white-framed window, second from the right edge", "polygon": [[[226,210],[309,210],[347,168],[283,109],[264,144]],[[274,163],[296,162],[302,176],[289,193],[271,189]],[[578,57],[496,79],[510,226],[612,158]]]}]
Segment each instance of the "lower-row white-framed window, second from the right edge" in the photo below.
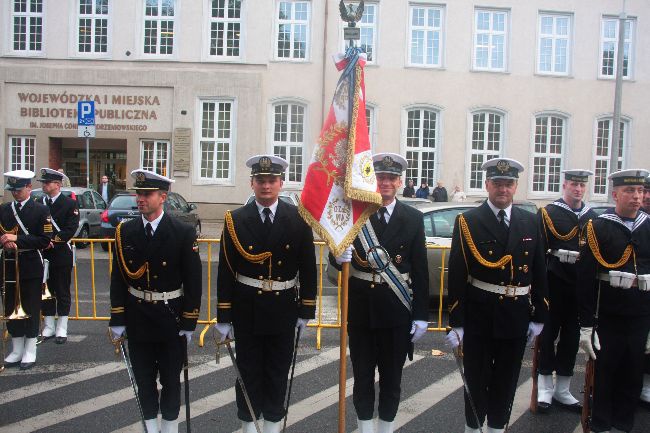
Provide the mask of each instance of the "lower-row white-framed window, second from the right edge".
[{"label": "lower-row white-framed window, second from the right edge", "polygon": [[[536,139],[537,139],[537,120],[546,118],[546,140],[545,140],[545,146],[546,146],[546,152],[536,152]],[[550,147],[553,145],[551,143],[551,122],[552,119],[559,119],[562,121],[562,133],[561,133],[561,143],[560,143],[560,152],[559,153],[552,153],[550,151]],[[532,131],[531,131],[531,149],[530,149],[530,161],[528,166],[530,167],[530,176],[529,176],[529,182],[528,182],[528,194],[530,198],[554,198],[557,197],[558,195],[562,194],[562,170],[564,169],[564,155],[566,154],[566,149],[569,146],[567,143],[567,139],[569,137],[568,134],[568,128],[569,128],[569,117],[564,114],[564,113],[559,113],[556,111],[544,111],[540,113],[536,113],[533,118],[532,118]],[[545,158],[545,164],[544,166],[546,167],[546,173],[544,174],[544,189],[535,191],[535,173],[536,173],[536,166],[535,166],[535,158]],[[553,191],[549,189],[549,179],[550,179],[550,173],[549,173],[549,159],[551,158],[559,158],[560,159],[560,166],[558,167],[558,172],[557,172],[557,177],[558,177],[558,190]]]}]

